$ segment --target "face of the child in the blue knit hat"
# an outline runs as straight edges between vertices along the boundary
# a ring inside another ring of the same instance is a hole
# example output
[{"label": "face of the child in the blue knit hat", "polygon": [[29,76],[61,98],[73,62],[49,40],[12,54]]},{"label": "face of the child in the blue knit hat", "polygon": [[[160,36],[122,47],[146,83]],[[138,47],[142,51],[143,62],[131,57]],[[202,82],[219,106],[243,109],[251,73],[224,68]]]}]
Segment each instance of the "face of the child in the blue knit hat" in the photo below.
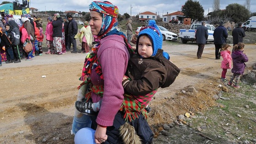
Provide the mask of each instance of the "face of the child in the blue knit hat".
[{"label": "face of the child in the blue knit hat", "polygon": [[152,42],[149,37],[139,37],[138,53],[142,58],[149,58],[153,54]]}]

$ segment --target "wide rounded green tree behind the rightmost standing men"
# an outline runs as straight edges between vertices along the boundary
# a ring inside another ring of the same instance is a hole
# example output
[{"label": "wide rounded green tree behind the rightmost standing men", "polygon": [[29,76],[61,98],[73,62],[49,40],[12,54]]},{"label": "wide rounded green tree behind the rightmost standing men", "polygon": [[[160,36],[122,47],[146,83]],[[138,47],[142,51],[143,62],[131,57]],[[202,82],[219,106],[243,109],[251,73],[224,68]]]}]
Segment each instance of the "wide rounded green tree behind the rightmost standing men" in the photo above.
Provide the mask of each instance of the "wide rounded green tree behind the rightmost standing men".
[{"label": "wide rounded green tree behind the rightmost standing men", "polygon": [[235,23],[246,21],[250,18],[250,11],[247,10],[245,6],[237,3],[226,6],[225,14],[230,16]]}]

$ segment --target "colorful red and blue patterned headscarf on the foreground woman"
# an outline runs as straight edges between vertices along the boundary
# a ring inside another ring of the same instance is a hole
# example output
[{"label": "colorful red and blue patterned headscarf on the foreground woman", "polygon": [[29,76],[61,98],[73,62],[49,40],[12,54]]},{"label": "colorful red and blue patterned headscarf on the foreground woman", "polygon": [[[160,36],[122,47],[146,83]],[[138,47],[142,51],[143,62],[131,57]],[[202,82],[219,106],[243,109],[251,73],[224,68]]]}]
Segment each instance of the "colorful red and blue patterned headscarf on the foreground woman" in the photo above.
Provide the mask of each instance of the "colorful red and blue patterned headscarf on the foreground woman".
[{"label": "colorful red and blue patterned headscarf on the foreground woman", "polygon": [[117,6],[112,5],[112,3],[108,1],[93,1],[89,7],[90,11],[102,13],[101,30],[98,34],[99,38],[103,38],[108,32],[117,28]]}]

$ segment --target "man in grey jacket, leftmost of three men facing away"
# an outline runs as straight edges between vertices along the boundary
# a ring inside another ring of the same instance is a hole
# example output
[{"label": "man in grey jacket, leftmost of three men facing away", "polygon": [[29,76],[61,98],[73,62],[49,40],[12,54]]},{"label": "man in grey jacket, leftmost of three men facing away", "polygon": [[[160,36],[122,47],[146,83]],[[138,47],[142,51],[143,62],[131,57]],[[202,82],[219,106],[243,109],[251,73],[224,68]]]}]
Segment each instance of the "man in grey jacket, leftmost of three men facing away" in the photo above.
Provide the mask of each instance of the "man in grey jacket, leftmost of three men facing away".
[{"label": "man in grey jacket, leftmost of three men facing away", "polygon": [[203,48],[206,43],[206,40],[208,39],[208,28],[205,27],[205,22],[202,22],[202,25],[197,27],[197,32],[196,32],[196,40],[197,40],[197,59],[201,59],[201,56],[203,54]]}]

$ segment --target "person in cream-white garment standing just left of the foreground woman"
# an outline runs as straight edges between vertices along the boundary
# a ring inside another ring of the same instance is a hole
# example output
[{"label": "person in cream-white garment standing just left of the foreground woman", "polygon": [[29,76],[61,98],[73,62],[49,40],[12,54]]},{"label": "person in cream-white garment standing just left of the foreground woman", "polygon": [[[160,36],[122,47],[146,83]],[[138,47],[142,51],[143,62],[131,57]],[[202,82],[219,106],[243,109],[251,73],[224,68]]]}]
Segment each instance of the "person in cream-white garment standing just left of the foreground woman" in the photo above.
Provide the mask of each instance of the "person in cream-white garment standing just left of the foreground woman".
[{"label": "person in cream-white garment standing just left of the foreground woman", "polygon": [[85,21],[85,26],[80,29],[80,42],[82,43],[82,53],[89,53],[89,46],[92,45],[91,27],[88,21]]}]

